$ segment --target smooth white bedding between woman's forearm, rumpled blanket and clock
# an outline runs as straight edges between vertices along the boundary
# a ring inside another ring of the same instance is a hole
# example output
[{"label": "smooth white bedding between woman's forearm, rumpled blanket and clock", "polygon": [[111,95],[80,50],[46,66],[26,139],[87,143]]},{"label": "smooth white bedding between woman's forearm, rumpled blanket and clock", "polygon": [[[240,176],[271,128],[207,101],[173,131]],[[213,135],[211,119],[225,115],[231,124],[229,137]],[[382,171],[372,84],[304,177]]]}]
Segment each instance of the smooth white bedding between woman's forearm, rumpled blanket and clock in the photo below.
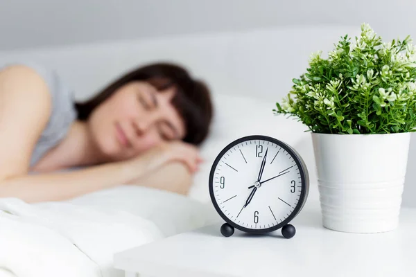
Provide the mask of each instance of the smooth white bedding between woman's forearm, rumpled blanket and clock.
[{"label": "smooth white bedding between woman's forearm, rumpled blanket and clock", "polygon": [[99,211],[123,211],[144,217],[155,223],[165,236],[191,231],[220,220],[212,205],[166,190],[135,185],[99,190],[67,202],[96,207]]}]

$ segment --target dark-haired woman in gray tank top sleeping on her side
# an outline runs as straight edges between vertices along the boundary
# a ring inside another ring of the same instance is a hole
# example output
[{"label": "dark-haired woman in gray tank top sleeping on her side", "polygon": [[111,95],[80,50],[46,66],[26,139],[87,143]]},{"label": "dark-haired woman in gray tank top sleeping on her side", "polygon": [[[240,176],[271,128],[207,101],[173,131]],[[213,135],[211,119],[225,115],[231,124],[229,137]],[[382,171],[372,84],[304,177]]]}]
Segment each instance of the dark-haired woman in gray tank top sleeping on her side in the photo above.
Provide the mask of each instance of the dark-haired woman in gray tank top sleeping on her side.
[{"label": "dark-haired woman in gray tank top sleeping on her side", "polygon": [[207,86],[175,64],[135,69],[82,103],[55,71],[8,64],[0,197],[59,201],[119,184],[186,194],[211,116]]}]

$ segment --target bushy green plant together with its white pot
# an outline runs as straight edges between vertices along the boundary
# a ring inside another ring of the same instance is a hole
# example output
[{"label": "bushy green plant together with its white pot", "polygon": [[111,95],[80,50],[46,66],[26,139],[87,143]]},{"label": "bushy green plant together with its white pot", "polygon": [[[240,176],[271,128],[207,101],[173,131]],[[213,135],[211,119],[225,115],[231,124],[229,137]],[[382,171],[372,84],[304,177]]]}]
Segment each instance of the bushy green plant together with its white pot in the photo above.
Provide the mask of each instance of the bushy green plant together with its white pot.
[{"label": "bushy green plant together with its white pot", "polygon": [[416,125],[416,49],[410,37],[384,43],[368,24],[327,58],[314,53],[275,114],[309,127],[322,223],[377,233],[397,227],[410,133]]}]

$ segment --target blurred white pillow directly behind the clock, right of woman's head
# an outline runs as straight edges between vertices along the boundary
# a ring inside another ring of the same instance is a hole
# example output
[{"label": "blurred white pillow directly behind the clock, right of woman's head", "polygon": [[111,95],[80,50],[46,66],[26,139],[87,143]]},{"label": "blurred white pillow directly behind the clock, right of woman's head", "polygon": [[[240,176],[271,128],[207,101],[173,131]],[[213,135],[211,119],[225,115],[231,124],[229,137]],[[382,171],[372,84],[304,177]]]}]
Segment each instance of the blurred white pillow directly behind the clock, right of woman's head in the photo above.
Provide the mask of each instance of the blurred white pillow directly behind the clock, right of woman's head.
[{"label": "blurred white pillow directly behind the clock, right of woman's head", "polygon": [[[194,175],[193,186],[189,197],[200,202],[211,202],[208,190],[209,172],[218,153],[232,141],[253,134],[262,134],[279,139],[295,149],[295,145],[310,139],[310,134],[304,132],[307,127],[294,118],[275,116],[275,102],[259,98],[214,95],[214,119],[207,140],[201,145],[200,152],[205,162]],[[311,154],[311,145],[302,149],[300,154]],[[308,158],[308,160],[311,160]]]}]

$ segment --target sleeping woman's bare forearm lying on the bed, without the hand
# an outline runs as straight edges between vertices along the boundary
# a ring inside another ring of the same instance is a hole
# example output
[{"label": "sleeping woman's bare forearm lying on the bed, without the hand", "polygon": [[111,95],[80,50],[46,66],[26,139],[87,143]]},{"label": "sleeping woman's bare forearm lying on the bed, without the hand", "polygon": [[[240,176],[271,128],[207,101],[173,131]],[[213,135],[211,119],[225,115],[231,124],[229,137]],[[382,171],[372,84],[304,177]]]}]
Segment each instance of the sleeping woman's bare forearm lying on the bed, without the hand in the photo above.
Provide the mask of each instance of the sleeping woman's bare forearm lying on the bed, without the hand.
[{"label": "sleeping woman's bare forearm lying on the bed, without the hand", "polygon": [[107,163],[83,170],[24,175],[0,182],[0,197],[18,197],[25,202],[59,201],[95,190],[127,184],[152,170],[146,157]]}]

